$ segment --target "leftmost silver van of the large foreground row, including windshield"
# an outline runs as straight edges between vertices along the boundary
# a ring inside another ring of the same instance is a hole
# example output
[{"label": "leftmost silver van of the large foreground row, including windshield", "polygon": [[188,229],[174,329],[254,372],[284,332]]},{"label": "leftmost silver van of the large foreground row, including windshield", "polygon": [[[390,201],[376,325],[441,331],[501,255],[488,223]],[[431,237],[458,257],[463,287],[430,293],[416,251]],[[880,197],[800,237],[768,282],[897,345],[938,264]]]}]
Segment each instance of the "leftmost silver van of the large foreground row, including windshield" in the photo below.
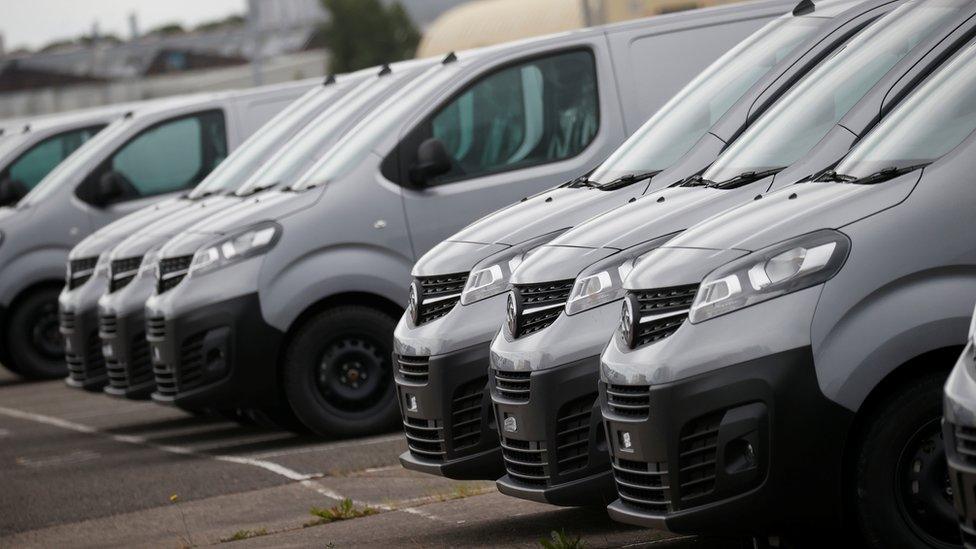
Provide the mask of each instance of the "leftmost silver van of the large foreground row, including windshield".
[{"label": "leftmost silver van of the large foreground row, including windshield", "polygon": [[[424,255],[414,266],[411,305],[394,341],[409,446],[400,456],[404,467],[451,478],[501,477],[489,345],[505,318],[512,267],[585,218],[700,173],[799,78],[896,5],[833,3],[811,12],[800,4],[731,49],[654,115],[589,175],[602,184],[542,193]],[[638,184],[656,170],[663,171]],[[637,177],[625,177],[631,174]]]}]

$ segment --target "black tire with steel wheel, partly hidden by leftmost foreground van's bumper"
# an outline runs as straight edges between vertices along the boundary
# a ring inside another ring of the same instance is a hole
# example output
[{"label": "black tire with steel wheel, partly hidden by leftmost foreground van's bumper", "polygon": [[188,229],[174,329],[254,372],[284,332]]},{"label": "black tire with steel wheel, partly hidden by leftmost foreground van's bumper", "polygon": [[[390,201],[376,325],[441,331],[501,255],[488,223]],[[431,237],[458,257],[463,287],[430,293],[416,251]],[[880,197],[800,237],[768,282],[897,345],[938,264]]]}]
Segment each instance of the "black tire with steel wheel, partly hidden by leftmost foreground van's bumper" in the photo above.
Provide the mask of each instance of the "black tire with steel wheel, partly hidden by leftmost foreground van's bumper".
[{"label": "black tire with steel wheel, partly hidden by leftmost foreground van's bumper", "polygon": [[285,351],[285,396],[312,432],[362,436],[397,424],[395,326],[382,311],[345,305],[316,314],[295,333]]}]

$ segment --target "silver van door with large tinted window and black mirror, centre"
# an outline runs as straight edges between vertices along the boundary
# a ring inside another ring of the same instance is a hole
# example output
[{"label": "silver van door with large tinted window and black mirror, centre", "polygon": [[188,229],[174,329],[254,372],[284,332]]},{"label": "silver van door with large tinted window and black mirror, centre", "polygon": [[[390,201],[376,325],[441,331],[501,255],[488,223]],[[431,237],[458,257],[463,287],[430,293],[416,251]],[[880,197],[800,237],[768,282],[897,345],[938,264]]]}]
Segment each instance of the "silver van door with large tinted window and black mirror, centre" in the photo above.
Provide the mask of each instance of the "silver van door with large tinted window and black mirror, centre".
[{"label": "silver van door with large tinted window and black mirror, centre", "polygon": [[[404,209],[419,256],[488,212],[582,175],[623,139],[603,48],[523,58],[479,76],[401,142]],[[446,152],[436,175],[418,150]]]}]

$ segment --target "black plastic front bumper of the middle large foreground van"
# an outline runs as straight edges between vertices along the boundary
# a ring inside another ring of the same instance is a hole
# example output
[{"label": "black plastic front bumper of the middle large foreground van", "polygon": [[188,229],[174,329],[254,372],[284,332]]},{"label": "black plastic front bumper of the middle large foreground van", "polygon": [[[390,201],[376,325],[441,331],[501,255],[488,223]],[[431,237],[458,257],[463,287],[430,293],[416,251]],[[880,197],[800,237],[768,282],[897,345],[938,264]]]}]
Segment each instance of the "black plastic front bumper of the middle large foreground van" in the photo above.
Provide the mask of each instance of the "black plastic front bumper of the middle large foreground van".
[{"label": "black plastic front bumper of the middle large foreground van", "polygon": [[[597,401],[599,377],[599,356],[531,374],[492,371],[493,387],[500,379],[503,387],[516,389],[492,390],[506,468],[497,482],[500,492],[567,506],[615,499]],[[518,393],[519,386],[528,393]]]}]

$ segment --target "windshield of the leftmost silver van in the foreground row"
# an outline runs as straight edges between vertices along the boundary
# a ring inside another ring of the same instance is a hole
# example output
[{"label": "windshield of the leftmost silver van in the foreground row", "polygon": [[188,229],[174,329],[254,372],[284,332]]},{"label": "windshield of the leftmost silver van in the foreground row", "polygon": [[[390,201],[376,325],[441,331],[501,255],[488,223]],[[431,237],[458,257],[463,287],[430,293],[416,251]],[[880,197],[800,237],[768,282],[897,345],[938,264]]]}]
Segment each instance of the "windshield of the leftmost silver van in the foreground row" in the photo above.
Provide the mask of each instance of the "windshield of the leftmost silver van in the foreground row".
[{"label": "windshield of the leftmost silver van in the foreground row", "polygon": [[829,21],[785,17],[764,25],[661,107],[593,172],[590,180],[605,185],[626,175],[667,168],[753,84]]}]

